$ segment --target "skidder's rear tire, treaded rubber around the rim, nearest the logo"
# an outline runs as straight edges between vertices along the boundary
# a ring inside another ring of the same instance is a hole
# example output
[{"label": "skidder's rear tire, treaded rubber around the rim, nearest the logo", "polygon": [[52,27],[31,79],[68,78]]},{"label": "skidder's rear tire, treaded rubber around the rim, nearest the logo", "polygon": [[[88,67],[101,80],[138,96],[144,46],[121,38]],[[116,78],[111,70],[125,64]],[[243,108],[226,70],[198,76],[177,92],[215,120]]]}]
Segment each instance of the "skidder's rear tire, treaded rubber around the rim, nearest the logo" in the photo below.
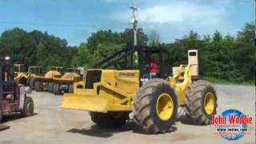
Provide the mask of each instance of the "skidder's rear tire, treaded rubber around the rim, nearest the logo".
[{"label": "skidder's rear tire, treaded rubber around the rim, nearest the logo", "polygon": [[[205,98],[206,94],[213,94],[214,109],[212,114],[207,114],[205,110]],[[212,115],[216,114],[217,109],[217,96],[212,86],[206,81],[196,81],[191,84],[186,91],[185,109],[187,112],[187,118],[195,125],[207,125],[211,123]]]}]

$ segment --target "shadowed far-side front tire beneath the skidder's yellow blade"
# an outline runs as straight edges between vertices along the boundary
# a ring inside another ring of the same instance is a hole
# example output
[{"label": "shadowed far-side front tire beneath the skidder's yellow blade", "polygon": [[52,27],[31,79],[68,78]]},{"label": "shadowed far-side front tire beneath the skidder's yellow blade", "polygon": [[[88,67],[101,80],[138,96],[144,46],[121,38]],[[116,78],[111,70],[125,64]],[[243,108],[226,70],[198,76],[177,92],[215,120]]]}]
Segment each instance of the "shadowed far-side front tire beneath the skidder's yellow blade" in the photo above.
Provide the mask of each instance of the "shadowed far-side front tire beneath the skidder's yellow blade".
[{"label": "shadowed far-side front tire beneath the skidder's yellow blade", "polygon": [[108,112],[97,113],[90,112],[91,120],[99,127],[103,129],[118,128],[126,124],[126,120],[129,120],[128,112]]}]

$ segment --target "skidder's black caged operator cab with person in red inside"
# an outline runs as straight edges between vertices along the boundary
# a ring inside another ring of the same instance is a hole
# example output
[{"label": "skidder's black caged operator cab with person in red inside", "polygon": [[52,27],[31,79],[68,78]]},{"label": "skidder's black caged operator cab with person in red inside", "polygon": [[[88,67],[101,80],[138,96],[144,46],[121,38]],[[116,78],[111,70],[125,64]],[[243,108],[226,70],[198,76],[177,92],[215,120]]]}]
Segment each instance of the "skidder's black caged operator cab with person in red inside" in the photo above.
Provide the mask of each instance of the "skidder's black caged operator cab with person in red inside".
[{"label": "skidder's black caged operator cab with person in red inside", "polygon": [[140,84],[151,78],[166,79],[171,72],[168,51],[161,47],[127,46],[92,66],[94,69],[139,70]]}]

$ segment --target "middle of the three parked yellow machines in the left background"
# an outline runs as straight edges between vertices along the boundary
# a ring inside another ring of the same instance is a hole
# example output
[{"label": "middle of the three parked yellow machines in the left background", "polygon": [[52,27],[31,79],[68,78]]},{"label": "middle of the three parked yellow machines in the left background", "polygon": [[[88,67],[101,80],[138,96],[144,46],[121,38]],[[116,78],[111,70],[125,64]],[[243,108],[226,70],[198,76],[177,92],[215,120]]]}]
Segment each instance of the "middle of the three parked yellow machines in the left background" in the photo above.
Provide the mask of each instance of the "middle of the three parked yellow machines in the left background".
[{"label": "middle of the three parked yellow machines in the left background", "polygon": [[51,70],[48,71],[44,76],[35,75],[34,78],[34,90],[43,91],[48,89],[48,85],[54,82],[54,77],[61,78],[62,74],[59,72],[63,68],[58,66],[52,66]]}]

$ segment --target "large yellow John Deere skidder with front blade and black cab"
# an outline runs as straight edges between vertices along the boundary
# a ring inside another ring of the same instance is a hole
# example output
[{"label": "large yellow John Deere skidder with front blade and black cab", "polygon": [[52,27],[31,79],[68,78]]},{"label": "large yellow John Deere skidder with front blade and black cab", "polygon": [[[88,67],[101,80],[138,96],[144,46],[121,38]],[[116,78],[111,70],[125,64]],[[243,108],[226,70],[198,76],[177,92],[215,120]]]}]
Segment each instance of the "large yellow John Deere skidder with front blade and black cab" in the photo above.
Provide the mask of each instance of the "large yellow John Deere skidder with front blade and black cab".
[{"label": "large yellow John Deere skidder with front blade and black cab", "polygon": [[[137,67],[132,66],[134,53]],[[150,72],[152,58],[159,69],[154,75]],[[120,62],[118,59],[125,59],[122,70],[103,70]],[[74,85],[74,94],[64,94],[61,107],[90,111],[92,121],[100,127],[122,126],[133,112],[134,122],[143,132],[157,134],[174,125],[178,106],[196,125],[209,124],[216,113],[214,87],[198,80],[198,50],[189,50],[188,64],[173,70],[166,50],[146,46],[122,49],[94,67],[99,65],[102,69],[86,71],[85,82]]]}]

